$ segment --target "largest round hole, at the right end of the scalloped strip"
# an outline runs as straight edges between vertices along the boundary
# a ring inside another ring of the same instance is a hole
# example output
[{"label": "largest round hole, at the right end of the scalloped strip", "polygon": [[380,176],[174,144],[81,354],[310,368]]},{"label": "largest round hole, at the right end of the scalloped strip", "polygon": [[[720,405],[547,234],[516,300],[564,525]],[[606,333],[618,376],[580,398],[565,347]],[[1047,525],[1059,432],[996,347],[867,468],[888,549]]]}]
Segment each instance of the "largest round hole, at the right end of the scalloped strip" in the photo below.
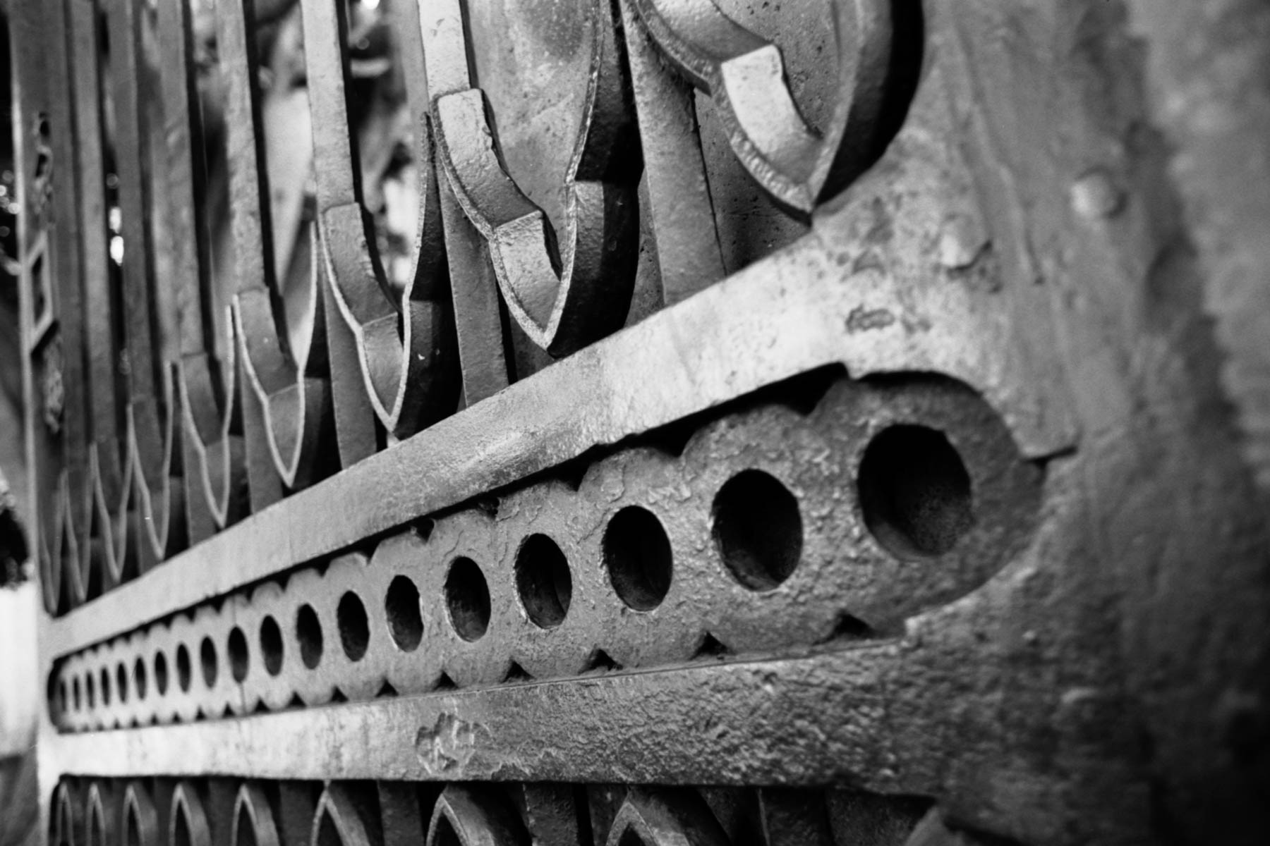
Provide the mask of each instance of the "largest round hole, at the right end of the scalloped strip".
[{"label": "largest round hole, at the right end of the scalloped strip", "polygon": [[865,525],[897,556],[944,554],[974,523],[965,464],[944,433],[926,426],[879,433],[857,488]]}]

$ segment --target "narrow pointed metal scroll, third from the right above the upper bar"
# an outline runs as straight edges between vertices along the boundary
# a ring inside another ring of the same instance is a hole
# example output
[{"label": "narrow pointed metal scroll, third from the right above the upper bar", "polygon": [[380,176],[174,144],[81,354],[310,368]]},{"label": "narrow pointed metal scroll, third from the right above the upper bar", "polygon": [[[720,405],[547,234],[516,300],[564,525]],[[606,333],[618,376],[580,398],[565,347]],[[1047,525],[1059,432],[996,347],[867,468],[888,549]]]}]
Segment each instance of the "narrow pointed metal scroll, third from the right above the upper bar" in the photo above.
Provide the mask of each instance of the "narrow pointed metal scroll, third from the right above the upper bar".
[{"label": "narrow pointed metal scroll, third from the right above the upper bar", "polygon": [[[361,159],[348,108],[344,0],[304,0],[305,63],[314,114],[318,221],[330,290],[353,334],[371,406],[404,438],[453,411],[450,315],[432,141],[422,80],[409,75],[419,155],[419,221],[410,275],[392,290],[362,202]],[[409,16],[414,4],[401,4]],[[418,27],[400,28],[404,53],[419,51]]]}]

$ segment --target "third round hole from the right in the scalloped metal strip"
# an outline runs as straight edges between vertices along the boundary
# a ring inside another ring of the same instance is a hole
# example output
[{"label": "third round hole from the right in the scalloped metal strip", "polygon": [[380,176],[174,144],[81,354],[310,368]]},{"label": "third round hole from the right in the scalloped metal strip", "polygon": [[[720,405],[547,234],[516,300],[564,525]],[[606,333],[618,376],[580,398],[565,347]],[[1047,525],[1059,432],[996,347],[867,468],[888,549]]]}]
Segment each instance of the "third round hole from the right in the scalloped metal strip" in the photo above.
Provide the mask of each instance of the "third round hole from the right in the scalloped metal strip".
[{"label": "third round hole from the right in the scalloped metal strip", "polygon": [[671,590],[671,540],[648,509],[631,505],[605,529],[605,566],[613,590],[626,605],[648,611]]}]

